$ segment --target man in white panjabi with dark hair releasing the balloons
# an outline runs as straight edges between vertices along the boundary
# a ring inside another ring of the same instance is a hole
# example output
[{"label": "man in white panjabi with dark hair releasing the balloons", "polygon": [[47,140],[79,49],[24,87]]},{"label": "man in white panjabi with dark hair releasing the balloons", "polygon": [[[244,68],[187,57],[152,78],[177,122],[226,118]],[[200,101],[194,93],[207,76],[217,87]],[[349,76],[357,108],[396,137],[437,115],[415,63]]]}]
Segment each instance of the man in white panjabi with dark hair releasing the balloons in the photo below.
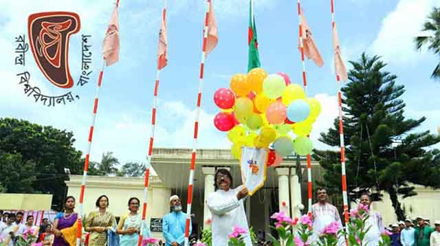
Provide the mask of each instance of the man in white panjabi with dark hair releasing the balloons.
[{"label": "man in white panjabi with dark hair releasing the balloons", "polygon": [[230,188],[232,176],[226,169],[218,169],[214,177],[217,191],[211,193],[206,201],[212,214],[212,246],[228,245],[229,235],[234,227],[246,230],[247,233],[243,235],[245,245],[252,246],[243,204],[248,196],[248,189],[242,186]]}]

